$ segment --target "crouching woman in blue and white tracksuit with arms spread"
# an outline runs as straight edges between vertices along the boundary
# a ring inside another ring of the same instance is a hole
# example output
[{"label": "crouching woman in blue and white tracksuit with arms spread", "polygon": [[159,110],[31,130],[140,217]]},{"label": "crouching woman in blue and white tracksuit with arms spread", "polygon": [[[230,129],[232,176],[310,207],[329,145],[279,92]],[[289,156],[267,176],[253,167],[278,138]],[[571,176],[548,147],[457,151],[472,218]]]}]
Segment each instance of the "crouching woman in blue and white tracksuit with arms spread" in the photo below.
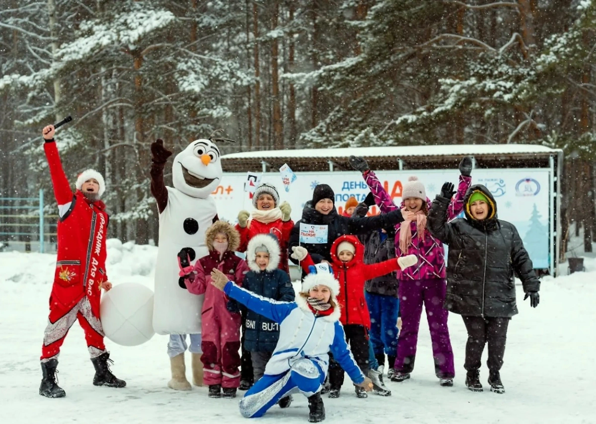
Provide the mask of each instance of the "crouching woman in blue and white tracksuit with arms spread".
[{"label": "crouching woman in blue and white tracksuit with arms spread", "polygon": [[339,282],[328,264],[311,267],[302,280],[302,290],[294,302],[277,302],[255,295],[228,281],[216,269],[212,284],[250,310],[280,325],[280,339],[265,375],[240,401],[244,417],[260,417],[284,396],[301,392],[308,397],[309,422],[325,419],[321,387],[327,376],[329,352],[339,362],[352,382],[367,391],[373,383],[360,371],[346,343],[340,307],[337,303]]}]

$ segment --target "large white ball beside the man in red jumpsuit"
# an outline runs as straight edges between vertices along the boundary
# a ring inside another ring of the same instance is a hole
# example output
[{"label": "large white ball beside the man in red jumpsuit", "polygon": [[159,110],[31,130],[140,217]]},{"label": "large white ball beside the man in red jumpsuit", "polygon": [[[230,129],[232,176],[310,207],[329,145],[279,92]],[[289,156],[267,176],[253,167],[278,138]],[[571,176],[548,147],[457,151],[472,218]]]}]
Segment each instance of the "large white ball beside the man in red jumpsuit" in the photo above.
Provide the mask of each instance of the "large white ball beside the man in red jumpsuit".
[{"label": "large white ball beside the man in red jumpsuit", "polygon": [[138,346],[153,337],[153,291],[139,283],[122,283],[101,296],[105,336],[122,346]]}]

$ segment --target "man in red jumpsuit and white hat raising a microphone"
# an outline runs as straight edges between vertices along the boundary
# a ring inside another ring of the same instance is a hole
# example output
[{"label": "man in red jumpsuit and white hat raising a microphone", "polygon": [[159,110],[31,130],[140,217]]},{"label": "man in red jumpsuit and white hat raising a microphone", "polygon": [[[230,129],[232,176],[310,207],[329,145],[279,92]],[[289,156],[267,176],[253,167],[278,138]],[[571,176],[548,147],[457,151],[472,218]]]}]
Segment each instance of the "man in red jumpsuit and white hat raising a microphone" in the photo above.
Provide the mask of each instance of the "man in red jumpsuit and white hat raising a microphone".
[{"label": "man in red jumpsuit and white hat raising a microphone", "polygon": [[50,398],[66,396],[55,377],[58,354],[70,327],[79,320],[95,367],[96,386],[124,387],[108,367],[110,354],[105,350],[100,321],[101,289],[110,290],[105,274],[105,237],[108,215],[100,200],[105,182],[101,174],[87,169],[70,188],[54,141],[54,126],[44,128],[44,150],[58,202],[58,259],[52,293],[49,296],[48,326],[44,332],[39,394]]}]

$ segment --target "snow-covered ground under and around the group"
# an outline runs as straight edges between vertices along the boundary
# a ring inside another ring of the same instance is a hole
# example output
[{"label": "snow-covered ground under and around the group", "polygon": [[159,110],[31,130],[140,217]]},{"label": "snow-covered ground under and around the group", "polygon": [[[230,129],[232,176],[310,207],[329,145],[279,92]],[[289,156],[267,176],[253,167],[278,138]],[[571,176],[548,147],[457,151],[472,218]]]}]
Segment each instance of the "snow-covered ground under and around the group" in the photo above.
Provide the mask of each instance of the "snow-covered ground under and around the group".
[{"label": "snow-covered ground under and around the group", "polygon": [[[156,247],[110,240],[108,276],[114,284],[136,281],[153,287]],[[154,336],[141,346],[125,347],[106,340],[115,363],[112,370],[125,379],[124,389],[92,385],[83,332],[75,323],[60,355],[63,399],[38,394],[42,333],[55,256],[0,253],[0,422],[2,423],[247,423],[236,400],[207,398],[206,388],[191,392],[167,389],[169,360],[166,336]],[[567,265],[561,266],[561,270]],[[594,330],[596,319],[596,259],[586,259],[586,273],[542,280],[541,304],[535,310],[522,302],[508,332],[501,372],[504,395],[477,394],[464,386],[465,329],[450,315],[449,329],[457,376],[453,388],[439,386],[433,373],[426,319],[421,323],[416,369],[411,380],[387,383],[389,398],[371,394],[357,399],[346,378],[342,397],[325,400],[329,423],[596,423],[594,398]],[[486,351],[485,360],[486,362]],[[187,358],[190,365],[190,359]],[[188,372],[190,375],[190,372]],[[486,386],[488,371],[483,367]],[[242,392],[239,392],[242,395]],[[306,399],[294,396],[287,410],[272,408],[261,422],[308,422]]]}]

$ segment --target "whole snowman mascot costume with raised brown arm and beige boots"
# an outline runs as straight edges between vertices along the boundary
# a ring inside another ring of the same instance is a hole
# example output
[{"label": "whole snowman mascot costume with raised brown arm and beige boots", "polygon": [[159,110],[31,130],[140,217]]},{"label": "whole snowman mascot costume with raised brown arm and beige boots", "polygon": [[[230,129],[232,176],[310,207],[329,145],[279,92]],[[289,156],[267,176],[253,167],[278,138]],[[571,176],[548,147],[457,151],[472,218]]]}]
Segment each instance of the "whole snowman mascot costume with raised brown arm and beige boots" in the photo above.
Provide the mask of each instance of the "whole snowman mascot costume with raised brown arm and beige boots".
[{"label": "whole snowman mascot costume with raised brown arm and beige boots", "polygon": [[175,390],[190,390],[186,378],[184,352],[190,335],[193,383],[202,385],[201,308],[203,295],[193,295],[179,286],[178,252],[186,249],[191,261],[207,255],[205,231],[218,220],[215,202],[210,194],[222,178],[220,153],[212,141],[191,142],[174,158],[173,188],[163,181],[163,168],[172,152],[162,140],[151,144],[151,193],[159,211],[159,250],[155,271],[153,328],[158,334],[170,335],[167,354],[172,379],[167,383]]}]

